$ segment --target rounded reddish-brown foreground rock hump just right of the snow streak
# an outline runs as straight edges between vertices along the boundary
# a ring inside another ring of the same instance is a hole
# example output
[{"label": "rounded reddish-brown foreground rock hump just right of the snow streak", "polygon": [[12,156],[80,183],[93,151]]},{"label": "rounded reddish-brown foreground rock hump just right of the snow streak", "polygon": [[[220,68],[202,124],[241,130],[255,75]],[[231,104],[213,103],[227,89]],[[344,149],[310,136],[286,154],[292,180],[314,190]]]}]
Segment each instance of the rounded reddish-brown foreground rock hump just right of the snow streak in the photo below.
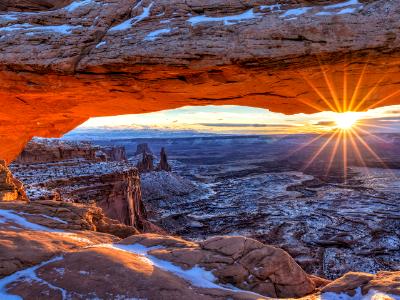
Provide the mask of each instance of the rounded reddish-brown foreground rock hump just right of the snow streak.
[{"label": "rounded reddish-brown foreground rock hump just right of the snow streak", "polygon": [[301,297],[314,291],[308,275],[283,250],[245,237],[214,237],[200,244],[159,235],[137,235],[122,241],[146,247],[162,246],[149,254],[183,269],[202,266],[219,282],[267,297]]}]

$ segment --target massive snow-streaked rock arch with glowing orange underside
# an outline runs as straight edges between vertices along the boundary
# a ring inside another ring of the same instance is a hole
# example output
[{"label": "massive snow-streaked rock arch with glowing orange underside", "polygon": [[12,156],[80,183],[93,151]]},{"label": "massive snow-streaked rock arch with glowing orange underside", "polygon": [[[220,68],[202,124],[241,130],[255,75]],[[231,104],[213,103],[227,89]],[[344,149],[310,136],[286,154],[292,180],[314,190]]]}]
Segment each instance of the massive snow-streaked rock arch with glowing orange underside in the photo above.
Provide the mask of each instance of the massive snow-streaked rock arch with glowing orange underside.
[{"label": "massive snow-streaked rock arch with glowing orange underside", "polygon": [[57,137],[94,116],[209,104],[313,113],[348,109],[352,98],[352,110],[400,104],[398,1],[58,2],[0,7],[7,162],[32,136]]}]

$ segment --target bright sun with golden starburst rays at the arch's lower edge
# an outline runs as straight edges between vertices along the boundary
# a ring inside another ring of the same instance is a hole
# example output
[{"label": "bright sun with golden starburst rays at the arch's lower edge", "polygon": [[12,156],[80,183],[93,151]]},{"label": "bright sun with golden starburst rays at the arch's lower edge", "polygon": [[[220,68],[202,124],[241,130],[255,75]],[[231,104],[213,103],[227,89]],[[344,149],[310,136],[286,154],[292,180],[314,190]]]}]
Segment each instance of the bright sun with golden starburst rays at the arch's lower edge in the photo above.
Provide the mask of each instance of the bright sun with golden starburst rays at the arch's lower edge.
[{"label": "bright sun with golden starburst rays at the arch's lower edge", "polygon": [[[322,86],[321,83],[319,83],[319,86],[317,87],[317,84],[310,78],[307,78],[307,76],[303,76],[303,79],[320,98],[320,105],[318,106],[325,106],[325,108],[318,109],[317,105],[309,104],[312,101],[309,101],[306,98],[301,101],[308,104],[311,108],[320,111],[324,111],[328,108],[333,112],[333,115],[328,121],[321,120],[321,122],[314,124],[322,124],[321,126],[325,126],[325,132],[320,133],[319,136],[312,139],[310,142],[300,146],[298,149],[293,151],[291,155],[295,155],[298,151],[308,147],[313,147],[313,145],[316,144],[316,149],[312,151],[302,169],[306,171],[309,168],[312,168],[313,165],[321,162],[320,157],[325,156],[328,157],[327,165],[324,166],[326,167],[325,176],[329,176],[332,171],[336,178],[338,168],[343,168],[342,178],[344,183],[348,180],[348,168],[351,163],[350,159],[362,166],[367,166],[366,157],[372,156],[383,168],[387,169],[388,166],[379,157],[379,151],[375,152],[367,142],[368,138],[380,139],[379,136],[370,132],[368,127],[384,127],[369,124],[365,113],[357,111],[368,102],[372,103],[367,106],[365,111],[375,108],[378,105],[385,103],[388,99],[399,95],[400,90],[396,90],[394,93],[383,99],[372,101],[376,88],[384,80],[384,77],[378,79],[369,90],[361,88],[362,83],[365,80],[365,73],[370,64],[369,58],[362,68],[358,78],[350,78],[348,76],[347,68],[349,66],[345,64],[343,69],[343,79],[341,81],[338,76],[333,76],[334,74],[338,74],[336,69],[329,70],[321,64],[319,59],[318,62],[320,64],[321,72],[324,75],[323,79],[326,87],[323,87],[323,83]],[[340,98],[342,101],[339,101]],[[367,129],[364,130],[363,128]]]}]

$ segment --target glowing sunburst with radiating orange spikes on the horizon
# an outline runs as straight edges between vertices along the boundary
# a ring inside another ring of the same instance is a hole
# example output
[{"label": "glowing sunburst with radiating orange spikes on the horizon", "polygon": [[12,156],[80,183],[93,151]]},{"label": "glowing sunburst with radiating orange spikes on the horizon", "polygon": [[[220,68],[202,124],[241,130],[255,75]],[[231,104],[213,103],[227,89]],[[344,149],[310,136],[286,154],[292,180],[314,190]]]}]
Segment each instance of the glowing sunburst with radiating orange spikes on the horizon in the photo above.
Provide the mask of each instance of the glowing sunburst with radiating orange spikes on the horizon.
[{"label": "glowing sunburst with radiating orange spikes on the horizon", "polygon": [[[377,87],[382,83],[385,76],[380,78],[375,84],[369,89],[367,92],[363,92],[361,86],[363,84],[363,80],[366,77],[366,72],[368,69],[369,62],[367,61],[363,66],[361,73],[358,78],[349,78],[349,74],[347,72],[347,68],[344,68],[343,71],[343,93],[337,91],[336,85],[332,80],[329,72],[322,66],[320,63],[321,73],[323,74],[324,83],[326,84],[327,91],[329,91],[329,95],[325,95],[320,89],[316,87],[310,79],[306,76],[303,76],[305,82],[311,87],[311,89],[316,93],[318,98],[322,101],[322,103],[329,108],[331,111],[335,113],[333,117],[333,125],[330,129],[330,133],[328,132],[328,138],[322,143],[318,149],[311,154],[310,158],[305,162],[303,170],[307,170],[313,163],[319,158],[322,154],[326,154],[326,151],[330,151],[328,153],[328,161],[326,166],[326,176],[329,175],[332,165],[335,162],[338,162],[338,157],[341,158],[342,168],[343,168],[343,179],[344,182],[347,182],[348,179],[348,164],[349,164],[349,154],[352,154],[362,166],[367,166],[365,161],[365,155],[368,154],[372,156],[375,160],[377,160],[383,167],[387,168],[383,160],[379,157],[379,155],[372,149],[368,142],[365,140],[364,136],[372,136],[376,139],[380,139],[375,136],[371,132],[368,131],[368,127],[378,127],[372,126],[369,124],[364,124],[364,114],[362,112],[358,112],[362,107],[365,106],[365,103],[371,100],[372,96],[375,94]],[[351,80],[353,79],[353,80]],[[354,84],[354,89],[349,91],[349,86]],[[384,97],[370,105],[369,108],[375,108],[380,104],[387,101],[389,98],[400,95],[400,90],[396,91],[389,96]],[[311,103],[312,101],[305,101],[305,103]],[[314,109],[317,108],[315,105],[312,106]],[[320,108],[317,108],[320,111],[323,111]],[[363,129],[363,127],[367,127]],[[320,141],[321,138],[325,137],[327,133],[320,135],[319,137],[313,139],[311,142],[302,146],[300,149],[297,149],[295,152],[309,147],[310,145]]]}]

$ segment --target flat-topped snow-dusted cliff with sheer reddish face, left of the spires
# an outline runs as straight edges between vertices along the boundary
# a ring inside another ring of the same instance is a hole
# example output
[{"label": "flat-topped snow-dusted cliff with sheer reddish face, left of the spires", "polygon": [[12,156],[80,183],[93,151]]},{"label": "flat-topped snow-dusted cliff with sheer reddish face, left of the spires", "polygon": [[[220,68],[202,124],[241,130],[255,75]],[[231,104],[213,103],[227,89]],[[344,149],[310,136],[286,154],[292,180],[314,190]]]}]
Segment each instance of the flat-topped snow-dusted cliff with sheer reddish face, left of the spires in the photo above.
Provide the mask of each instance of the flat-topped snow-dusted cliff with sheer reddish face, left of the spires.
[{"label": "flat-topped snow-dusted cliff with sheer reddish face, left of the spires", "polygon": [[29,143],[11,170],[25,183],[32,201],[96,203],[107,217],[150,230],[138,170],[124,160],[108,159],[125,159],[124,153],[119,148],[114,152],[85,143],[42,140]]}]

